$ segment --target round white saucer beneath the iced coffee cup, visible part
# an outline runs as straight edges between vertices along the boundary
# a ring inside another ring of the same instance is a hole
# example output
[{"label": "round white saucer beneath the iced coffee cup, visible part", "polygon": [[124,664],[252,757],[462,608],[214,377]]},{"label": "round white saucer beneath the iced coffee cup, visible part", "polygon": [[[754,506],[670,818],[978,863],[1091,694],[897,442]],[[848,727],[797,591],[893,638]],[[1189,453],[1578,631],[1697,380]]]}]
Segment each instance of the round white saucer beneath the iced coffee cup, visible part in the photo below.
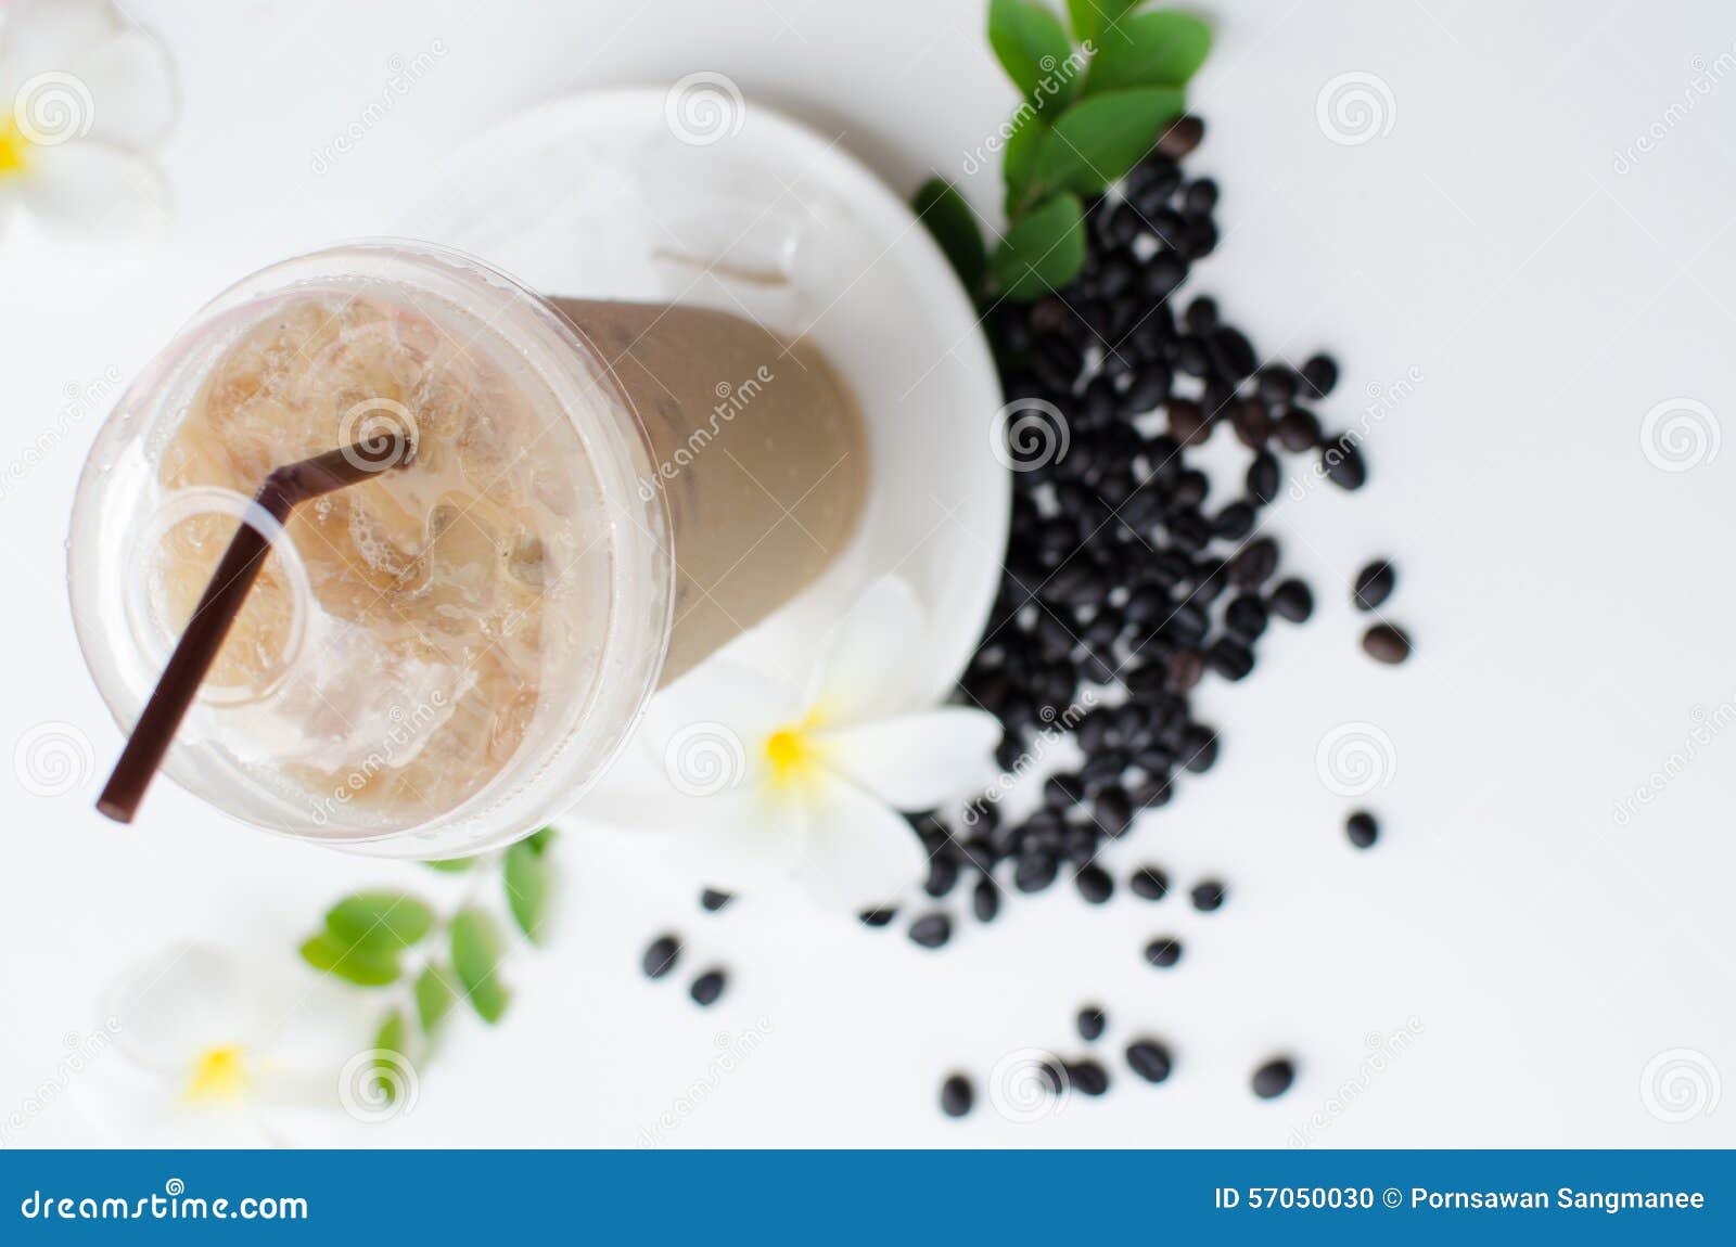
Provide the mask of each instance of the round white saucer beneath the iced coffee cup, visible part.
[{"label": "round white saucer beneath the iced coffee cup, visible part", "polygon": [[403,222],[554,295],[684,302],[811,336],[870,425],[873,487],[854,546],[724,652],[807,654],[871,579],[927,607],[911,663],[934,697],[993,605],[1010,480],[990,451],[1000,382],[976,309],[929,232],[840,139],[734,85],[602,90],[469,144]]}]

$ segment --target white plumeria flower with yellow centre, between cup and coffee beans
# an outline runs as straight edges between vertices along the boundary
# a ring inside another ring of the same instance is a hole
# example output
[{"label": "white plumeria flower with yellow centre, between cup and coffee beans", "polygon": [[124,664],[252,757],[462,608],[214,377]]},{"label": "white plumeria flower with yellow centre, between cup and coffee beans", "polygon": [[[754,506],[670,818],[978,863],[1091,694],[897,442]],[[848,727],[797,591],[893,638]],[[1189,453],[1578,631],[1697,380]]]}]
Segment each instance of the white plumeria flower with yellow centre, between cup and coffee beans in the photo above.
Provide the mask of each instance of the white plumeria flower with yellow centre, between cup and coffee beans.
[{"label": "white plumeria flower with yellow centre, between cup and coffee beans", "polygon": [[580,813],[635,834],[681,831],[719,886],[793,878],[828,907],[887,902],[927,855],[899,810],[993,775],[1000,723],[930,706],[915,683],[924,610],[898,578],[871,584],[809,669],[712,659],[658,697],[628,756]]}]

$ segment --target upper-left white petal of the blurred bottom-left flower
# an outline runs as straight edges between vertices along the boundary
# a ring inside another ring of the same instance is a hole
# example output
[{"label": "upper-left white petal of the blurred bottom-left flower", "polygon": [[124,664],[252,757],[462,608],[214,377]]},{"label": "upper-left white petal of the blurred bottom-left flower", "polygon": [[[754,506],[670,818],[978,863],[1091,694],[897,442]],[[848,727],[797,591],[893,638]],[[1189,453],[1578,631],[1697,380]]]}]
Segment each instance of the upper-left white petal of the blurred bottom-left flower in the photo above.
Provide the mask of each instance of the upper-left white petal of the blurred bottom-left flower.
[{"label": "upper-left white petal of the blurred bottom-left flower", "polygon": [[165,1079],[184,1079],[200,1053],[257,1044],[262,1002],[240,968],[205,945],[174,945],[135,964],[108,992],[115,1048]]}]

